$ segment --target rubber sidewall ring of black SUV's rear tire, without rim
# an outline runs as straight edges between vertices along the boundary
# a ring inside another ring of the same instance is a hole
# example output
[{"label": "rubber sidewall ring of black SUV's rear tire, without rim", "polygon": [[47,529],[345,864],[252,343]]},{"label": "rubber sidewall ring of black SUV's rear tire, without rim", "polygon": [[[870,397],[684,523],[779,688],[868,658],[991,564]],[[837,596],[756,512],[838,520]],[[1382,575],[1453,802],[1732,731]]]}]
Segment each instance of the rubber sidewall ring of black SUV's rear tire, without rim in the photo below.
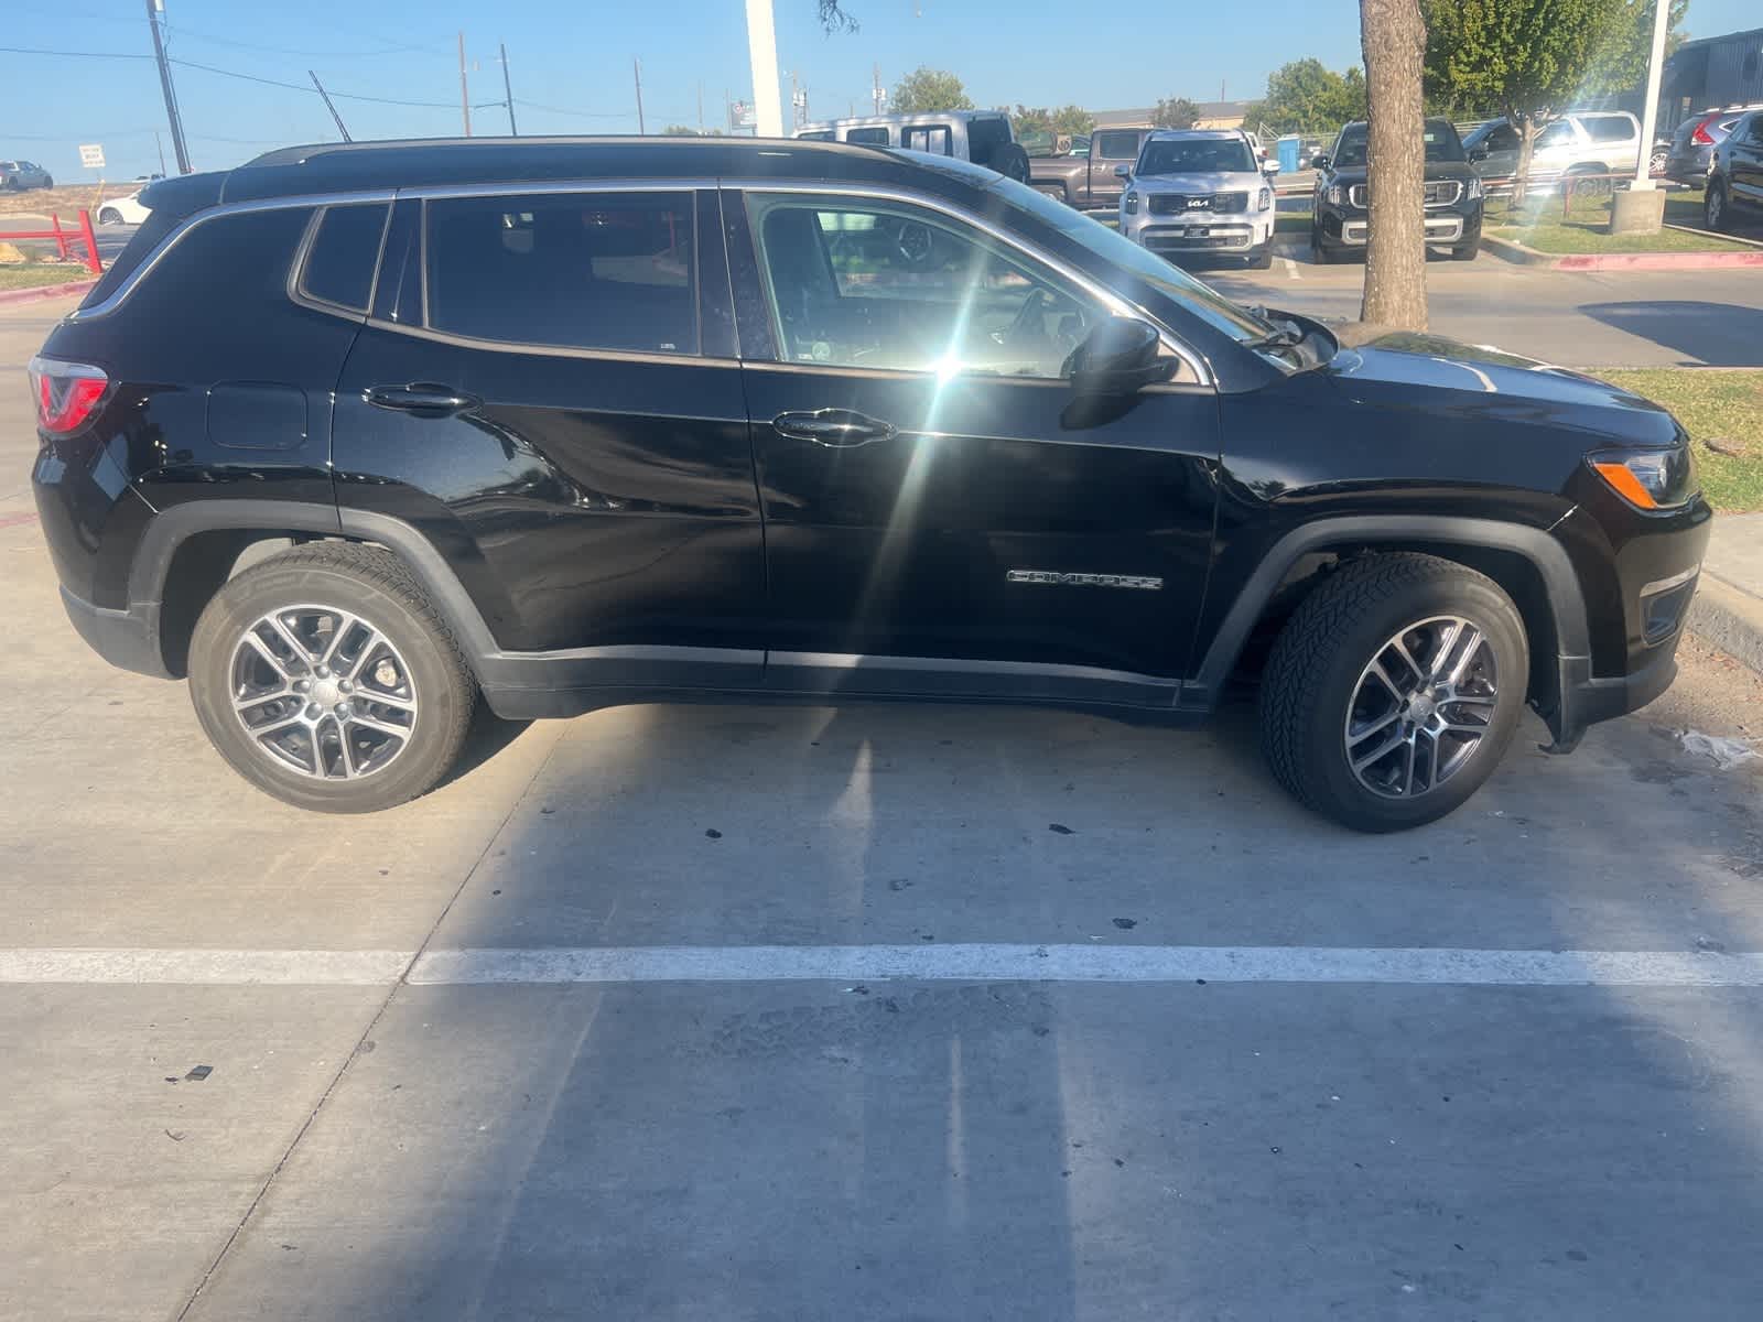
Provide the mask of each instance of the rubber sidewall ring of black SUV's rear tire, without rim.
[{"label": "rubber sidewall ring of black SUV's rear tire, without rim", "polygon": [[[254,620],[270,610],[296,605],[338,606],[361,615],[386,635],[409,666],[418,700],[416,730],[383,772],[360,781],[301,776],[261,753],[233,714],[233,649]],[[190,702],[220,756],[259,790],[321,813],[372,813],[423,793],[453,760],[448,732],[455,728],[453,707],[462,694],[443,647],[444,642],[395,592],[342,569],[266,562],[227,582],[196,622],[190,636]]]}]

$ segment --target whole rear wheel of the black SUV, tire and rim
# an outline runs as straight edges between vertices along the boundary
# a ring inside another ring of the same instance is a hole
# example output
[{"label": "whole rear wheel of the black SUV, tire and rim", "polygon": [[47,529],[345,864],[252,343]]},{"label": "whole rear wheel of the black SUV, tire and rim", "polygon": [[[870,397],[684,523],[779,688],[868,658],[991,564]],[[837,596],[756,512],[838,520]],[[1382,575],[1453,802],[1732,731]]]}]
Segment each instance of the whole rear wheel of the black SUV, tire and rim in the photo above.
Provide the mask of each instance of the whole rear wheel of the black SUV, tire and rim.
[{"label": "whole rear wheel of the black SUV, tire and rim", "polygon": [[[277,631],[272,615],[291,628]],[[338,657],[335,670],[323,665]],[[259,700],[234,709],[247,686]],[[190,700],[210,742],[259,790],[316,813],[376,813],[434,788],[458,758],[476,698],[428,594],[377,546],[273,555],[229,580],[190,638]],[[349,714],[347,747],[338,712]],[[264,735],[275,728],[286,733]],[[386,733],[400,728],[407,735]]]}]

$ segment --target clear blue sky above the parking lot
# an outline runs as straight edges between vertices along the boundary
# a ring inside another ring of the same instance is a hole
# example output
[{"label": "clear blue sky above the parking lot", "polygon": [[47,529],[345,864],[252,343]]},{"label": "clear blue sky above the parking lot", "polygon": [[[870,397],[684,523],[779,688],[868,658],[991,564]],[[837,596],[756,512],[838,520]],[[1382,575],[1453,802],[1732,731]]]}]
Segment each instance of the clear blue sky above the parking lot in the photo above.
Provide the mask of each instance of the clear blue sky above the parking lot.
[{"label": "clear blue sky above the parking lot", "polygon": [[[723,122],[725,90],[751,97],[742,0],[164,0],[167,53],[197,169],[224,169],[289,143],[335,141],[307,71],[337,97],[354,137],[458,134],[458,33],[472,129],[508,132],[502,65],[522,134],[635,132],[633,60],[642,62],[649,132]],[[1303,56],[1359,62],[1354,0],[1261,0],[1253,21],[1227,5],[1054,5],[1047,0],[850,0],[855,33],[827,37],[815,0],[774,0],[785,116],[795,72],[815,118],[867,113],[873,69],[892,86],[919,65],[954,71],[980,106],[1086,109],[1162,97],[1250,100],[1268,74]],[[106,175],[157,171],[166,109],[141,0],[7,0],[0,46],[0,157],[92,178],[79,143],[99,143]],[[1691,0],[1685,28],[1712,37],[1754,26],[1756,0]],[[197,69],[192,65],[208,65]],[[252,79],[270,79],[252,81]],[[275,86],[286,83],[293,86]],[[340,95],[342,93],[342,95]],[[1222,93],[1222,97],[1220,97]],[[367,100],[379,97],[398,102]],[[494,102],[494,104],[490,104]],[[173,164],[169,137],[166,160]]]}]

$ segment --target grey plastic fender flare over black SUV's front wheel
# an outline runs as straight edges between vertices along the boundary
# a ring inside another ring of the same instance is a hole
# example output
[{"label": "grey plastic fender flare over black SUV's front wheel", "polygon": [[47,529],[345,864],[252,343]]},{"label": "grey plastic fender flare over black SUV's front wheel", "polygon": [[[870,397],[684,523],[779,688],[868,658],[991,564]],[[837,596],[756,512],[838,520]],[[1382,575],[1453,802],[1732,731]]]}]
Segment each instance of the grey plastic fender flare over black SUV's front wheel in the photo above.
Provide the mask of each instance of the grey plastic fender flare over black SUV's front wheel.
[{"label": "grey plastic fender flare over black SUV's front wheel", "polygon": [[1555,620],[1555,645],[1560,661],[1590,659],[1590,628],[1587,624],[1585,594],[1580,576],[1567,559],[1566,548],[1548,532],[1523,524],[1506,524],[1497,518],[1460,518],[1433,515],[1347,515],[1320,518],[1292,529],[1261,559],[1255,573],[1243,583],[1229,613],[1206,647],[1194,679],[1183,684],[1183,703],[1209,703],[1224,687],[1236,666],[1250,631],[1266,610],[1268,601],[1285,580],[1301,555],[1319,550],[1349,546],[1377,548],[1379,543],[1426,541],[1444,546],[1477,546],[1521,555],[1537,571],[1548,594]]}]

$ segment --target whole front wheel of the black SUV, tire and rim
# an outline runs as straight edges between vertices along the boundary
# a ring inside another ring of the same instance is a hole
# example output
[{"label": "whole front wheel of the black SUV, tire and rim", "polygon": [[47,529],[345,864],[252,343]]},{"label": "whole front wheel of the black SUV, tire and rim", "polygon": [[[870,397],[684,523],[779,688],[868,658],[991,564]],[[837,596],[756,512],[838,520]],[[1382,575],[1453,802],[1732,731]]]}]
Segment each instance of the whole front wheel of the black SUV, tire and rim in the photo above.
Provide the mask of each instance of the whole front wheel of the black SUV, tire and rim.
[{"label": "whole front wheel of the black SUV, tire and rim", "polygon": [[[1481,642],[1451,635],[1446,620],[1477,629]],[[1447,679],[1416,684],[1396,659],[1398,640]],[[1373,673],[1380,661],[1395,684]],[[1458,661],[1463,670],[1449,679]],[[1262,751],[1298,802],[1343,827],[1419,827],[1460,807],[1499,767],[1529,673],[1523,619],[1491,578],[1433,555],[1370,555],[1319,583],[1275,642],[1261,689]],[[1400,687],[1410,687],[1409,703]],[[1446,689],[1454,696],[1439,696]]]}]

